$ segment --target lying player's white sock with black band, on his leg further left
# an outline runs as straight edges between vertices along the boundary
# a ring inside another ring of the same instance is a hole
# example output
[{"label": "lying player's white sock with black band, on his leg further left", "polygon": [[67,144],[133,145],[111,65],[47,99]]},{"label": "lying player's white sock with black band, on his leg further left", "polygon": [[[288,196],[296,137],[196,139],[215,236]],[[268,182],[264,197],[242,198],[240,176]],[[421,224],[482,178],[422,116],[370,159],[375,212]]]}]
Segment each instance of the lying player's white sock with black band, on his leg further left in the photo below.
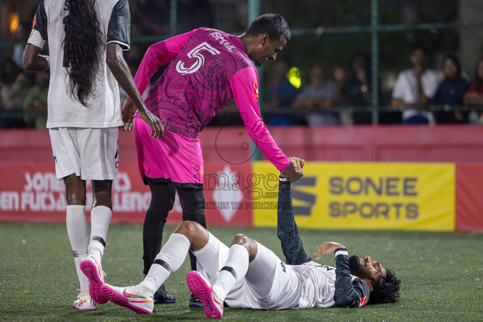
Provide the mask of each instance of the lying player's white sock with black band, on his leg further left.
[{"label": "lying player's white sock with black band, on his leg further left", "polygon": [[185,235],[171,234],[140,285],[147,287],[154,294],[170,273],[175,272],[183,264],[189,246],[190,242]]}]

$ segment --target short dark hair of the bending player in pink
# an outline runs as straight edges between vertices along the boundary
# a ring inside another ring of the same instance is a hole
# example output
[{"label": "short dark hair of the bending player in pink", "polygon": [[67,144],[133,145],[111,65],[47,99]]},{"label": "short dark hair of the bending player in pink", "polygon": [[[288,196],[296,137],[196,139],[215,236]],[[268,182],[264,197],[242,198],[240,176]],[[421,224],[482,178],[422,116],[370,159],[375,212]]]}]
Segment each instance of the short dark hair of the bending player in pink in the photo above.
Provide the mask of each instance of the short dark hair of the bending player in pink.
[{"label": "short dark hair of the bending player in pink", "polygon": [[280,14],[264,14],[256,18],[246,29],[245,33],[252,37],[258,37],[268,33],[270,39],[280,39],[285,36],[287,40],[292,38],[292,33],[284,17]]}]

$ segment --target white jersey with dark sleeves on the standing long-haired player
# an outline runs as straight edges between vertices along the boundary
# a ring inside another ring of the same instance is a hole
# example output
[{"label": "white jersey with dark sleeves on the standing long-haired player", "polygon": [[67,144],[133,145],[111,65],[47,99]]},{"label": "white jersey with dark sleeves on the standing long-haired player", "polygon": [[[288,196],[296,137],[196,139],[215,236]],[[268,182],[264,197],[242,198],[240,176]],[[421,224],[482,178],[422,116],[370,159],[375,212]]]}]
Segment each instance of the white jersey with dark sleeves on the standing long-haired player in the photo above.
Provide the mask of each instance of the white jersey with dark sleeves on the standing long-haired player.
[{"label": "white jersey with dark sleeves on the standing long-haired player", "polygon": [[[50,86],[47,128],[103,128],[122,125],[119,88],[106,63],[106,48],[111,42],[129,50],[130,16],[128,0],[96,0],[97,17],[104,49],[100,57],[100,78],[95,80],[94,98],[85,107],[71,98],[69,76],[63,66],[64,22],[68,18],[70,0],[42,0],[33,21],[28,43],[43,47],[49,42]],[[90,50],[90,48],[85,48]]]}]

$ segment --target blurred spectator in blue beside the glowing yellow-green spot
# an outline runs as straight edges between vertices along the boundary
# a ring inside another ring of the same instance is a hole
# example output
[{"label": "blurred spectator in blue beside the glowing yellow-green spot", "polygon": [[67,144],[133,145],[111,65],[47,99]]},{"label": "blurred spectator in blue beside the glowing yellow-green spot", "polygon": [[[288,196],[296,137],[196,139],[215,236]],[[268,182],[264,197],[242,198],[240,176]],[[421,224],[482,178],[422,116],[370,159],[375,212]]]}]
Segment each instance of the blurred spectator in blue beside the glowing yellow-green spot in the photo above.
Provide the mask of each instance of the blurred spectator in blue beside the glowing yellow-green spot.
[{"label": "blurred spectator in blue beside the glowing yellow-green spot", "polygon": [[[270,82],[269,101],[270,106],[276,109],[289,109],[297,94],[297,89],[290,84],[287,73],[292,67],[290,59],[279,58],[275,63],[273,79]],[[270,116],[270,125],[294,125],[293,117],[274,115]]]}]

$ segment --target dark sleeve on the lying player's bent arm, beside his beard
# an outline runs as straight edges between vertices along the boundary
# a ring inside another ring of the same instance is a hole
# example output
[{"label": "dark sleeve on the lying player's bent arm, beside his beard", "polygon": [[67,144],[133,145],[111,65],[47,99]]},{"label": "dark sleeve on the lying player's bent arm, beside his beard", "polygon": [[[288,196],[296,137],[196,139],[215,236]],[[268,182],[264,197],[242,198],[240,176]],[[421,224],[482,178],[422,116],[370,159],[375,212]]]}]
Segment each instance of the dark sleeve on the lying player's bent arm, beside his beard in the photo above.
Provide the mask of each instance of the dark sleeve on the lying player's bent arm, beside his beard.
[{"label": "dark sleeve on the lying player's bent arm, beside his beard", "polygon": [[352,280],[347,249],[335,251],[334,301],[339,308],[359,308],[369,300],[369,285],[358,278]]}]

